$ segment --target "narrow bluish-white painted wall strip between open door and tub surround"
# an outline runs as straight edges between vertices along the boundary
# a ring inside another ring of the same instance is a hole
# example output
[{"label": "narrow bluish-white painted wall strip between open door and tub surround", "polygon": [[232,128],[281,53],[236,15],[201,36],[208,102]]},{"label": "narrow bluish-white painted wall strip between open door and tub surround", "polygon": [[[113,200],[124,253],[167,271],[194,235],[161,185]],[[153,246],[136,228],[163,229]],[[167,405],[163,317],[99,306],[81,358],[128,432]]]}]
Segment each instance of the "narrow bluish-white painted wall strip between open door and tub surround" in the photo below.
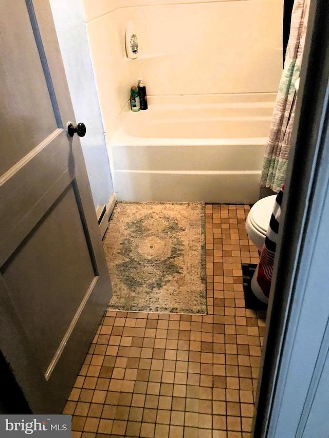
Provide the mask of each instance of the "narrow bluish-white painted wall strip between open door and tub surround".
[{"label": "narrow bluish-white painted wall strip between open door and tub surround", "polygon": [[81,0],[50,0],[67,82],[77,122],[85,123],[81,138],[95,207],[107,204],[113,193],[104,129],[95,85]]}]

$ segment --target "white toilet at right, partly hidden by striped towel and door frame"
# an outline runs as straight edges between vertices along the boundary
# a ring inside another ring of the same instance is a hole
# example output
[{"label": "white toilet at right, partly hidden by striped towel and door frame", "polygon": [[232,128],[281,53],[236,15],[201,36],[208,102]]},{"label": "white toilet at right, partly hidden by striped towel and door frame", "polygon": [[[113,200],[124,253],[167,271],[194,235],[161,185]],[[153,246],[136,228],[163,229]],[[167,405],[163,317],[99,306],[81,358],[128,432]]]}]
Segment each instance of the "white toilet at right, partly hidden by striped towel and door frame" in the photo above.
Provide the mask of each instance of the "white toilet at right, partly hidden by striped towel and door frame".
[{"label": "white toilet at right, partly hidden by striped towel and door frame", "polygon": [[[259,251],[262,251],[262,247],[265,243],[265,237],[269,227],[269,221],[271,219],[276,197],[277,195],[271,195],[257,201],[251,207],[246,220],[246,231],[249,239],[258,247]],[[251,290],[254,295],[257,296],[257,298],[263,302],[267,302],[267,298],[263,294],[257,282],[257,274],[258,265],[251,279]]]}]

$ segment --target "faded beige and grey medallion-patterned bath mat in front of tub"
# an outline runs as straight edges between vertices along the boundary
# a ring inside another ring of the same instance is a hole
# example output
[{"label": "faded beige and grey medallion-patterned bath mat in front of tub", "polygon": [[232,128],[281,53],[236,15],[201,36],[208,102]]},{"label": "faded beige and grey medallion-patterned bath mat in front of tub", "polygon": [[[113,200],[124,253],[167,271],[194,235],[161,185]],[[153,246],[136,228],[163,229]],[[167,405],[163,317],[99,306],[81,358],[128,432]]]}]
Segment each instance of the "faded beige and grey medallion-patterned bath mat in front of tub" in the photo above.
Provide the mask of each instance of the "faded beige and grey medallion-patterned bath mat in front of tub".
[{"label": "faded beige and grey medallion-patterned bath mat in front of tub", "polygon": [[205,205],[118,202],[103,241],[108,309],[207,313]]}]

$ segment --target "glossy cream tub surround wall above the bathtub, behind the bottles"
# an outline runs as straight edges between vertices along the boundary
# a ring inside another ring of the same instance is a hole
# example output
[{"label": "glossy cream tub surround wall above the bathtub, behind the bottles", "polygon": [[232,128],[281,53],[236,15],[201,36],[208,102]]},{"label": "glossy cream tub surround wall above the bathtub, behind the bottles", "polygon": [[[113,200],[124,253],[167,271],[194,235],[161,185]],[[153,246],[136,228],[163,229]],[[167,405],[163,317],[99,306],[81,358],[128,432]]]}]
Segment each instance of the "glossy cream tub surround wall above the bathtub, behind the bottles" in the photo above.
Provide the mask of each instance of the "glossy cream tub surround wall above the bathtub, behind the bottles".
[{"label": "glossy cream tub surround wall above the bathtub, behind the bottles", "polygon": [[[81,0],[107,134],[132,85],[148,94],[276,92],[282,71],[281,0]],[[125,55],[128,21],[139,59]]]}]

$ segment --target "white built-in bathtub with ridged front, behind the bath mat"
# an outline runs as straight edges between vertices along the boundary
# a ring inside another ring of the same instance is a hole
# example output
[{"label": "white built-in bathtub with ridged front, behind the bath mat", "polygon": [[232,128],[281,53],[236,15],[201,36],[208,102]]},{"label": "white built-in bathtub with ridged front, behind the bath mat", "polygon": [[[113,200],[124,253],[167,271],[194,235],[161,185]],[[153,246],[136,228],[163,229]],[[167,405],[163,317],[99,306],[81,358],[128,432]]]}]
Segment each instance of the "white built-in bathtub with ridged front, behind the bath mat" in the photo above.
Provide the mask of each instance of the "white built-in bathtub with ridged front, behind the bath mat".
[{"label": "white built-in bathtub with ridged front, behind the bath mat", "polygon": [[275,97],[154,96],[137,113],[127,104],[109,139],[118,198],[257,201]]}]

